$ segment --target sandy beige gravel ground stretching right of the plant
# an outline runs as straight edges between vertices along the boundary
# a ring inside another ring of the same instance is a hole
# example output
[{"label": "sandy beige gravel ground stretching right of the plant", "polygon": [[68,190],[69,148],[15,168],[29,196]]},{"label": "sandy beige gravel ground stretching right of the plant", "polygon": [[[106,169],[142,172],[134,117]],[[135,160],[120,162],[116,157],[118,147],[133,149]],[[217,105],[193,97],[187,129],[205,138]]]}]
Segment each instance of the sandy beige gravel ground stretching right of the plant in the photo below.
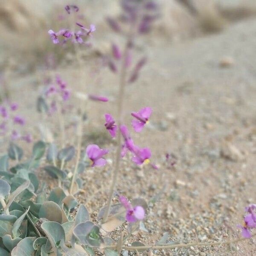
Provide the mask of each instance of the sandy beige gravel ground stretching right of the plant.
[{"label": "sandy beige gravel ground stretching right of the plant", "polygon": [[[151,243],[166,231],[169,241],[177,242],[224,241],[240,236],[236,225],[242,221],[244,207],[256,203],[256,19],[236,23],[218,35],[179,44],[157,39],[150,46],[144,46],[143,41],[139,44],[138,54],[146,52],[150,61],[140,80],[127,86],[126,120],[129,125],[131,111],[153,108],[151,128],[133,137],[137,144],[151,148],[152,160],[160,170],[149,166],[136,169],[125,159],[117,192],[149,201],[164,185],[166,190],[149,209],[145,221],[149,234],[140,232],[134,239]],[[231,60],[225,60],[227,57]],[[221,60],[230,62],[228,67],[221,67]],[[87,73],[91,67],[87,64],[84,70]],[[90,124],[86,133],[95,127],[105,132],[104,113],[115,114],[117,78],[102,70],[96,84],[92,76],[81,83],[74,72],[67,67],[61,71],[73,90],[83,90],[86,84],[90,92],[112,99],[104,105],[90,103],[87,111]],[[32,123],[38,121],[33,112],[35,100],[30,96],[38,93],[34,81],[34,74],[15,79],[13,95],[26,104]],[[88,143],[84,141],[84,145]],[[101,145],[113,148],[114,142],[103,141]],[[174,167],[165,161],[167,152],[175,156]],[[104,170],[88,170],[84,175],[87,192],[79,200],[93,217],[105,204],[111,168],[109,164]],[[253,256],[255,241],[232,248],[191,247],[153,254]]]}]

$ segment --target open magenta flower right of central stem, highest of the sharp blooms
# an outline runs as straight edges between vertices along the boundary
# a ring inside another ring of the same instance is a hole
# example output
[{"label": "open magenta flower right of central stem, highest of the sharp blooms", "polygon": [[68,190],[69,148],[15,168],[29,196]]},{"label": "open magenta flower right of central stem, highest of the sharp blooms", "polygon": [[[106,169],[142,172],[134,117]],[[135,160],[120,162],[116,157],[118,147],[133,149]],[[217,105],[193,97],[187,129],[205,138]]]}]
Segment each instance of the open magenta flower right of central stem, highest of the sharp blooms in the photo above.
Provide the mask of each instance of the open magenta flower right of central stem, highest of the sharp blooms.
[{"label": "open magenta flower right of central stem, highest of the sharp blooms", "polygon": [[141,132],[145,124],[151,116],[152,109],[150,107],[142,108],[139,112],[132,112],[131,115],[135,118],[132,121],[134,131]]}]

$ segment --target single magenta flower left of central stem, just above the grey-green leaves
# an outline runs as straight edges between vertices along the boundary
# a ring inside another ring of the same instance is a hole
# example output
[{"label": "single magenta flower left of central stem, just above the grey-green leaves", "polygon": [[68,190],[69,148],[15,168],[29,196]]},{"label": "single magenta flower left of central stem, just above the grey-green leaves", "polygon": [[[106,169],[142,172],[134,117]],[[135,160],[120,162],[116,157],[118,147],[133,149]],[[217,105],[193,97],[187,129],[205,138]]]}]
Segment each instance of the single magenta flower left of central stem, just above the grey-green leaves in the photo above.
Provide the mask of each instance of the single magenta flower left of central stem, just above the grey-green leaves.
[{"label": "single magenta flower left of central stem, just above the grey-green leaves", "polygon": [[107,149],[101,149],[98,145],[88,145],[86,148],[87,157],[91,160],[91,166],[105,166],[107,161],[102,158],[105,154],[108,154]]}]

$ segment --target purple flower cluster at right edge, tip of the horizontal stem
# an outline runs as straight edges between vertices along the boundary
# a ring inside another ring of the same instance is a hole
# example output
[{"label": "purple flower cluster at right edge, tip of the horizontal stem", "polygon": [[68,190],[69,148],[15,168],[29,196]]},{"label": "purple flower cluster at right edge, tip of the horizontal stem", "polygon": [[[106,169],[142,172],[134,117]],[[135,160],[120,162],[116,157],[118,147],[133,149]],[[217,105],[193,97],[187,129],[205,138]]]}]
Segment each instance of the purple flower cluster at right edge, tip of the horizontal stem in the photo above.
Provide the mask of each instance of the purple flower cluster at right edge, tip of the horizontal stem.
[{"label": "purple flower cluster at right edge, tip of the horizontal stem", "polygon": [[250,238],[250,230],[256,228],[256,204],[250,204],[245,207],[246,215],[244,216],[244,225],[238,225],[242,230],[242,236],[244,238]]}]

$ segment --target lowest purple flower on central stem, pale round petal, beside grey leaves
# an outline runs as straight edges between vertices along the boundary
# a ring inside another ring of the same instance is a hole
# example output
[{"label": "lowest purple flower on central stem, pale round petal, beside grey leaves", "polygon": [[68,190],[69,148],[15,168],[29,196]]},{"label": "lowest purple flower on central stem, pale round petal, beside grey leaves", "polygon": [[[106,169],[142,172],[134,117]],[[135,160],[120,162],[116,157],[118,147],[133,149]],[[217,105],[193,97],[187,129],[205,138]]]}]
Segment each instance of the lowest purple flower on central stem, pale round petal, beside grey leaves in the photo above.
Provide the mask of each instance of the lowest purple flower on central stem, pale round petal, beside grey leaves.
[{"label": "lowest purple flower on central stem, pale round petal, beside grey leaves", "polygon": [[137,205],[133,207],[124,196],[119,196],[119,202],[126,209],[126,220],[128,222],[136,222],[141,221],[145,218],[145,210],[142,206]]}]

